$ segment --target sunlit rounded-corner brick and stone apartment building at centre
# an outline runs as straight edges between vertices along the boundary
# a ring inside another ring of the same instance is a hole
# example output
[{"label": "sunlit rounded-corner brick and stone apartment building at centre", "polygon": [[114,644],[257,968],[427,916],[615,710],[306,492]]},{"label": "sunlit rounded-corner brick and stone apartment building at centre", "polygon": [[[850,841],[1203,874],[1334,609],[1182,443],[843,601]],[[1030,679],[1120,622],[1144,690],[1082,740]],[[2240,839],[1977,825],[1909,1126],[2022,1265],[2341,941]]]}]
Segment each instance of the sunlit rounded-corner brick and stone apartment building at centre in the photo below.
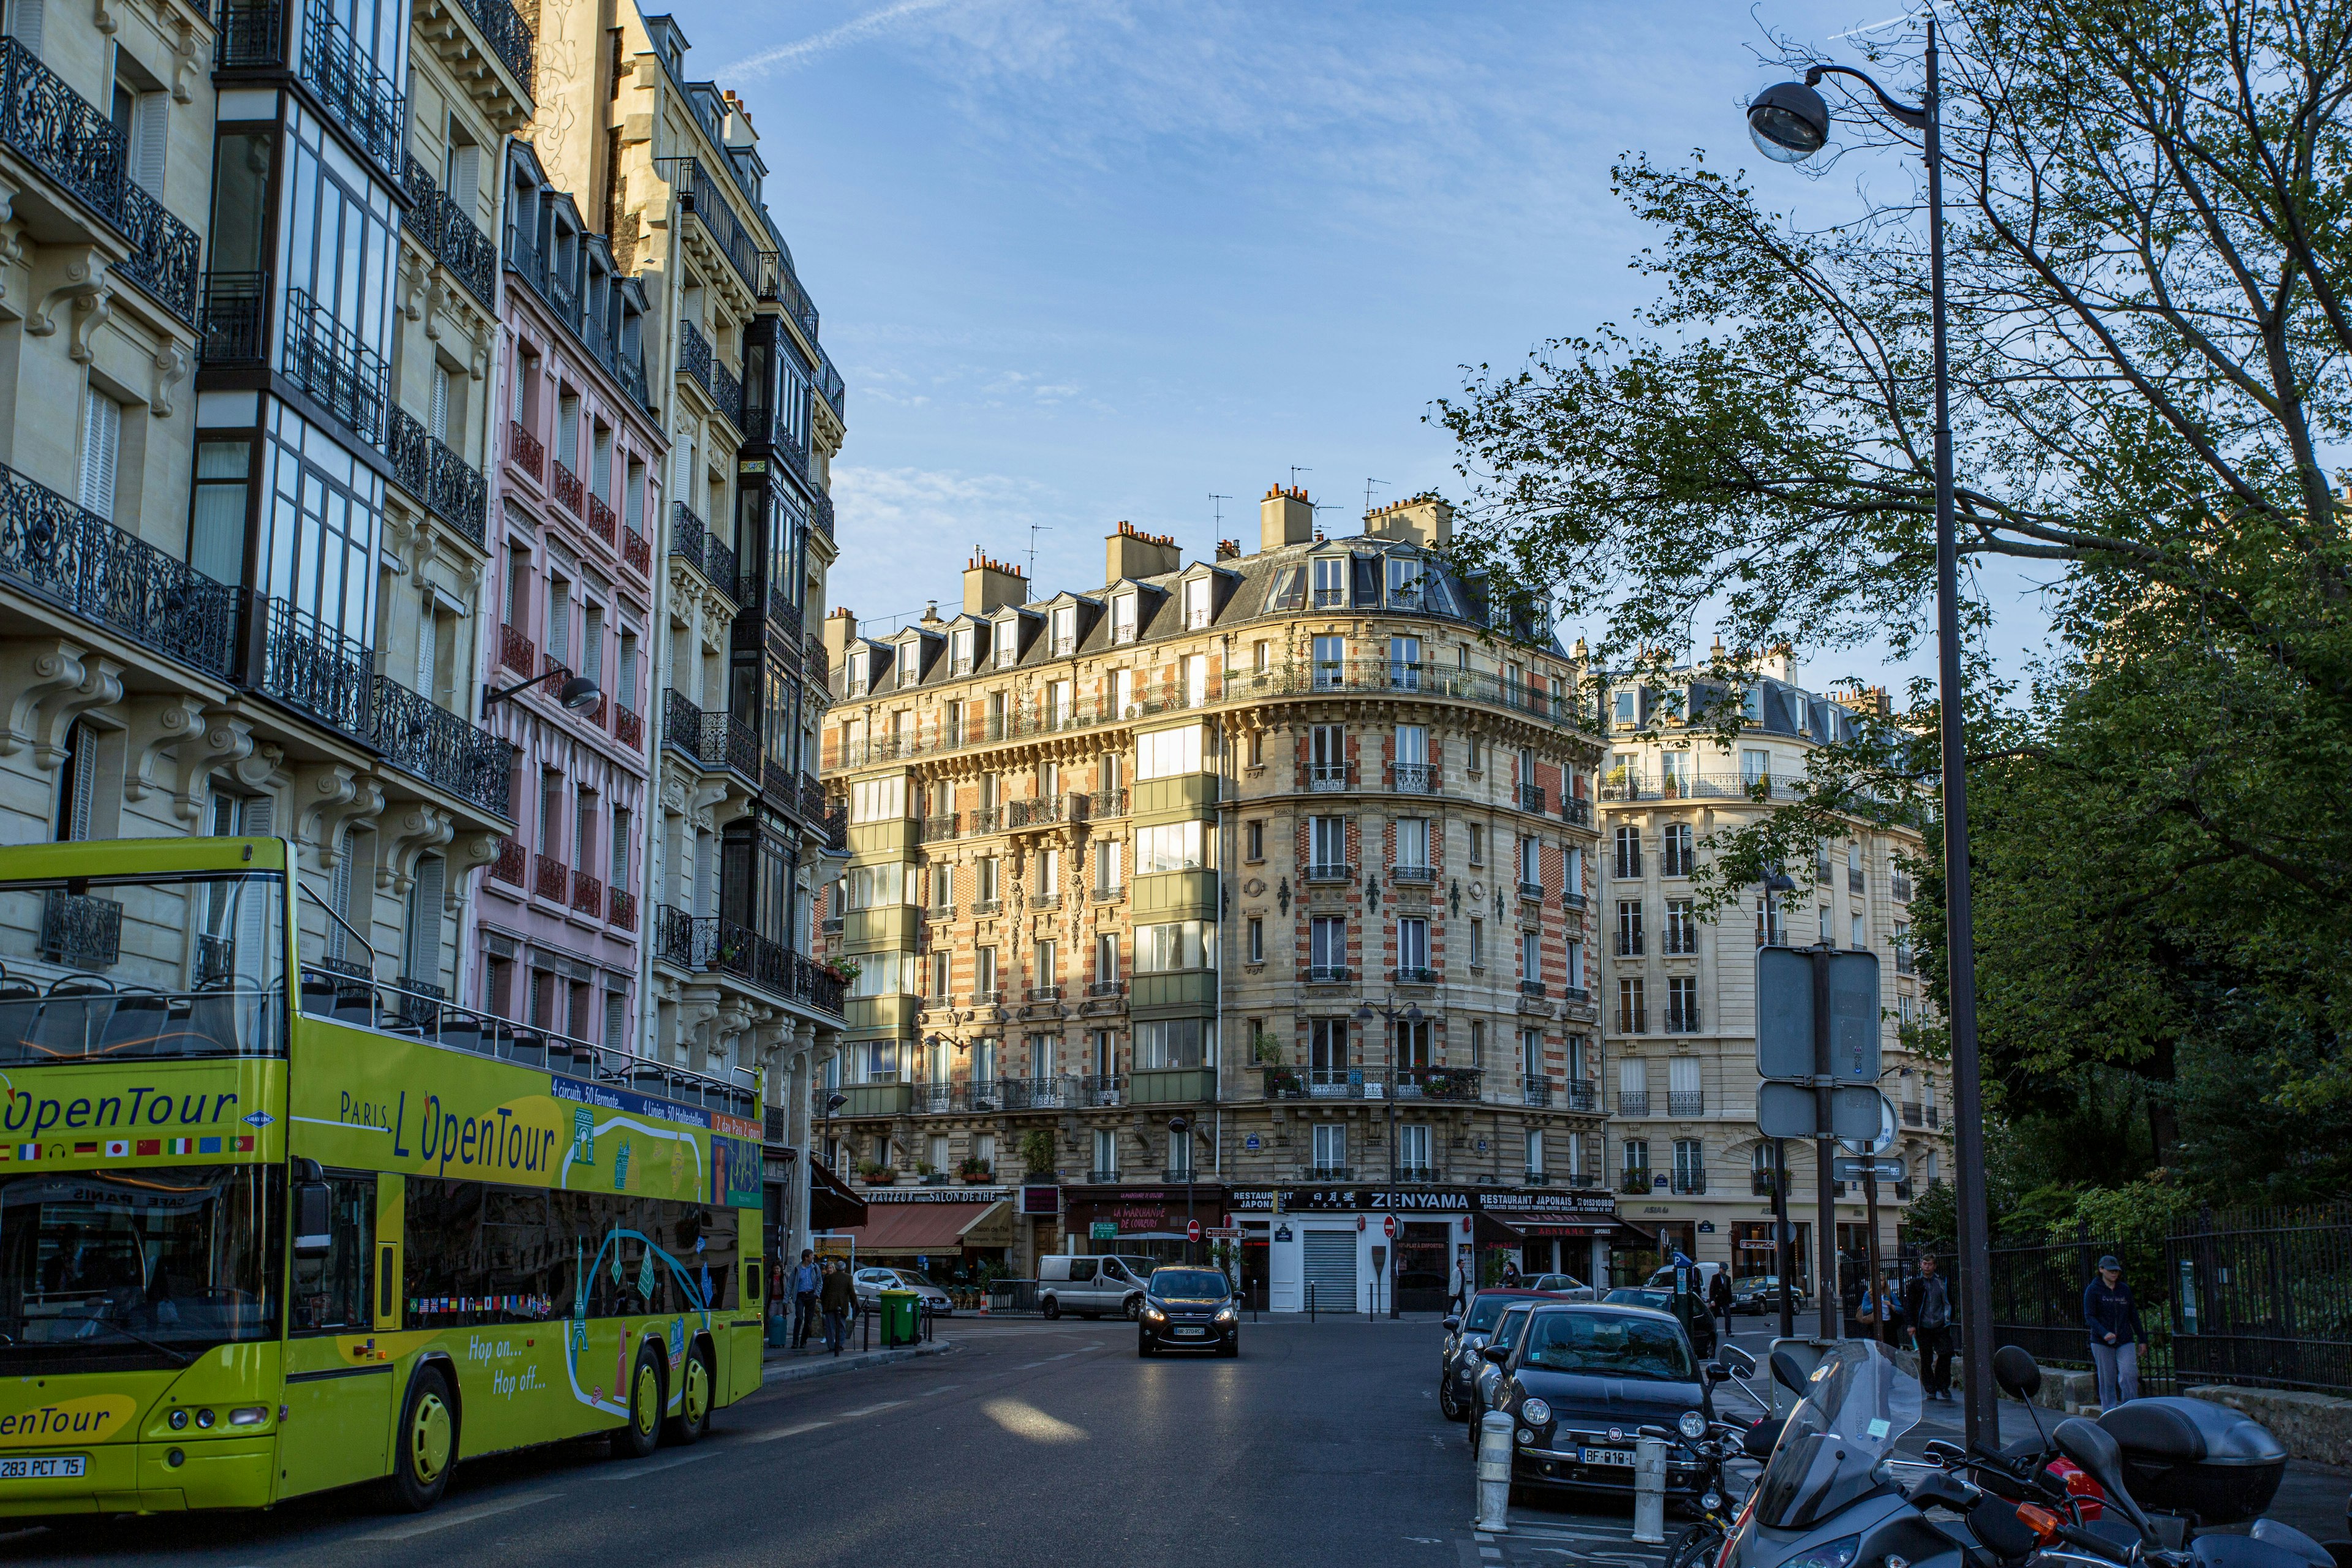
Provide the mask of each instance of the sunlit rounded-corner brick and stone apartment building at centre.
[{"label": "sunlit rounded-corner brick and stone apartment building at centre", "polygon": [[1251,552],[1120,524],[1101,588],[974,557],[950,618],[828,618],[861,1251],[1174,1255],[1190,1215],[1277,1309],[1432,1300],[1479,1241],[1590,1267],[1599,745],[1449,538],[1275,489]]}]

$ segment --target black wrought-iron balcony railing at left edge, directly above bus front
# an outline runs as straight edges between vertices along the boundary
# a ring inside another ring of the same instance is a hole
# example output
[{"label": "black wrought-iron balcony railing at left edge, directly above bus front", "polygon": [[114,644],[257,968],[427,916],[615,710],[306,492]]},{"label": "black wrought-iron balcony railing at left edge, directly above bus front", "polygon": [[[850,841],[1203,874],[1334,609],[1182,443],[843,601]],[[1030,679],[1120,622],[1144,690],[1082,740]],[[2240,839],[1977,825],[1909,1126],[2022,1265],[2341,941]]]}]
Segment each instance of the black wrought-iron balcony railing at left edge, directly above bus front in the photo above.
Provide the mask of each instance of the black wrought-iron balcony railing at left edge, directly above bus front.
[{"label": "black wrought-iron balcony railing at left edge, directly above bus front", "polygon": [[0,465],[0,581],[228,679],[238,590]]}]

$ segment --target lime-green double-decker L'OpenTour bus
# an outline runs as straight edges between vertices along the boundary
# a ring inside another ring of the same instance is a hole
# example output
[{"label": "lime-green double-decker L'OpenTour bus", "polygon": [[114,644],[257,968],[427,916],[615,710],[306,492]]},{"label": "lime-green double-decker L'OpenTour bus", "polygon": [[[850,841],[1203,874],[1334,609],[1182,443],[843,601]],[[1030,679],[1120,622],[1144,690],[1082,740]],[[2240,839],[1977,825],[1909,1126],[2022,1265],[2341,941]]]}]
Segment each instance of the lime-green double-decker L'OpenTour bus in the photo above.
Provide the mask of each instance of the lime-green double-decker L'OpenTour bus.
[{"label": "lime-green double-decker L'OpenTour bus", "polygon": [[423,1509],[760,1387],[757,1086],[379,978],[292,853],[0,851],[0,1514]]}]

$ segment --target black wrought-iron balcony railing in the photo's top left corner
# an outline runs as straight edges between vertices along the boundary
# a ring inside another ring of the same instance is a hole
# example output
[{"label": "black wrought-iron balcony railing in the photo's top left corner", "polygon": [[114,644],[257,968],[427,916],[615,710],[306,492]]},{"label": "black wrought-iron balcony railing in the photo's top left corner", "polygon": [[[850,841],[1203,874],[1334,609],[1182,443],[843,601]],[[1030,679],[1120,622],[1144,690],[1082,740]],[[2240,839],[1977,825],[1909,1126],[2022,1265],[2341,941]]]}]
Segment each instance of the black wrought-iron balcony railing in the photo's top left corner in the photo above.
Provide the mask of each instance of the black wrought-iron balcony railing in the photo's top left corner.
[{"label": "black wrought-iron balcony railing in the photo's top left corner", "polygon": [[129,240],[118,275],[193,322],[202,247],[129,176],[125,132],[16,38],[0,38],[0,141]]}]

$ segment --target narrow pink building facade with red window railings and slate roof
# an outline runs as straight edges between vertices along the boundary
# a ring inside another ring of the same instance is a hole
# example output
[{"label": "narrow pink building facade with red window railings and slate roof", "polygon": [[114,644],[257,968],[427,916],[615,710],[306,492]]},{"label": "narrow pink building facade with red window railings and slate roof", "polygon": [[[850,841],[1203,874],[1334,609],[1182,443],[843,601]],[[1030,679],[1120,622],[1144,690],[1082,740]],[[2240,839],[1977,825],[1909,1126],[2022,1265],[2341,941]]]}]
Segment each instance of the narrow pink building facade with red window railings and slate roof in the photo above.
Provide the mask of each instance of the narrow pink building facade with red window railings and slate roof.
[{"label": "narrow pink building facade with red window railings and slate roof", "polygon": [[[652,520],[661,423],[642,404],[644,294],[553,190],[506,165],[485,726],[515,745],[515,837],[475,900],[470,999],[541,1030],[642,1048],[640,907],[654,733]],[[557,672],[562,670],[562,672]],[[567,675],[569,672],[569,675]],[[569,677],[597,696],[564,708]]]}]

